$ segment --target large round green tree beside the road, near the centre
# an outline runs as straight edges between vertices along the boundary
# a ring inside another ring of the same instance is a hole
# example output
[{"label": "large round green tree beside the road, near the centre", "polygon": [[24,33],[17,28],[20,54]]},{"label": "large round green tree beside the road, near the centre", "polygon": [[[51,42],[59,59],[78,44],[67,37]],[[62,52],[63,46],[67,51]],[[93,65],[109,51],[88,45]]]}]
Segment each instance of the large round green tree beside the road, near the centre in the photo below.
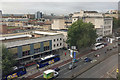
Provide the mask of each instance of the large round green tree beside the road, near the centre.
[{"label": "large round green tree beside the road, near the centre", "polygon": [[79,50],[82,47],[95,43],[96,38],[97,34],[94,25],[78,20],[68,29],[67,43],[70,46],[76,46]]}]

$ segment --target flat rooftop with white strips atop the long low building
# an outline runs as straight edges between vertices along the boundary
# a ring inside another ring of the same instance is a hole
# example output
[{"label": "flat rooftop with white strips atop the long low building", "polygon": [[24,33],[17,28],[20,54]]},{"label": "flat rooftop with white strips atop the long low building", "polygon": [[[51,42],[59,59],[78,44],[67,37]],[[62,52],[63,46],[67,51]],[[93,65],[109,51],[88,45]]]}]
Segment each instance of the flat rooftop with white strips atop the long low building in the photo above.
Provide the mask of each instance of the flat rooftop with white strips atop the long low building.
[{"label": "flat rooftop with white strips atop the long low building", "polygon": [[43,31],[28,31],[28,32],[22,32],[22,33],[16,33],[16,34],[5,34],[0,35],[0,40],[5,42],[13,42],[18,40],[26,40],[31,38],[40,38],[45,36],[54,36],[59,35],[60,33],[53,33],[53,32],[43,32]]}]

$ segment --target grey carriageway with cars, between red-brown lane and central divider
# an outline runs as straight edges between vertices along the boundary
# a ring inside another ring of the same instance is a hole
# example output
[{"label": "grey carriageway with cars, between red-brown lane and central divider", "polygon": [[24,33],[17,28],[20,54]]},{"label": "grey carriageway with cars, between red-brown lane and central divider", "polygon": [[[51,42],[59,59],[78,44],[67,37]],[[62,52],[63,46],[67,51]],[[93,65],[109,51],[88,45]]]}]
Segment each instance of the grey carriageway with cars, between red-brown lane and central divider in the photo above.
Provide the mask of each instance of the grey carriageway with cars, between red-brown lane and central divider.
[{"label": "grey carriageway with cars, between red-brown lane and central divider", "polygon": [[[84,62],[84,60],[83,60],[84,57],[89,57],[93,60],[99,60],[99,59],[104,58],[104,57],[108,56],[109,54],[117,51],[117,48],[115,48],[115,49],[105,53],[108,48],[113,48],[113,45],[109,45],[100,50],[91,52],[88,55],[83,56],[82,58],[79,59],[79,62],[77,63],[77,67],[74,68],[73,70],[68,70],[70,63],[62,66],[60,68],[61,70],[59,71],[59,76],[57,78],[71,78],[72,76],[74,76],[74,74],[76,72],[81,72],[82,70],[84,70],[86,68],[86,66],[89,67],[89,65],[93,64],[90,62]],[[94,54],[100,54],[100,57],[94,57]],[[39,76],[38,78],[41,78],[41,76]]]}]

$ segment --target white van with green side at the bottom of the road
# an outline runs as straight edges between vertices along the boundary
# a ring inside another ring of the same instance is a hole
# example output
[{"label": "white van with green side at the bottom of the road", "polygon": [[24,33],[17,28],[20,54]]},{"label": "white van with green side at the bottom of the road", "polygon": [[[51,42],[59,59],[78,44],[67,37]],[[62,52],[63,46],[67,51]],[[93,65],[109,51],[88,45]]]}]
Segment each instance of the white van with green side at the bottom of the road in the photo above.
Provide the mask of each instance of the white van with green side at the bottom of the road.
[{"label": "white van with green side at the bottom of the road", "polygon": [[58,72],[52,69],[46,70],[43,72],[43,78],[45,79],[51,79],[51,78],[55,78],[58,76]]}]

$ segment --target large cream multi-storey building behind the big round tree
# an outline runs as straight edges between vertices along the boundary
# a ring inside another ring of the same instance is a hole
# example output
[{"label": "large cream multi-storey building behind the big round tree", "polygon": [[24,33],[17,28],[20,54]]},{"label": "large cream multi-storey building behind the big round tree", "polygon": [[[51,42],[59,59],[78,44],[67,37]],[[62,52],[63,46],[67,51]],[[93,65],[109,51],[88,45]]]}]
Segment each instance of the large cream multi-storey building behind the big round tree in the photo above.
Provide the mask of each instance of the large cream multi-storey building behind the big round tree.
[{"label": "large cream multi-storey building behind the big round tree", "polygon": [[102,13],[96,11],[83,11],[74,13],[72,16],[72,23],[77,20],[84,22],[91,22],[96,29],[98,36],[112,35],[113,18],[107,18]]}]

